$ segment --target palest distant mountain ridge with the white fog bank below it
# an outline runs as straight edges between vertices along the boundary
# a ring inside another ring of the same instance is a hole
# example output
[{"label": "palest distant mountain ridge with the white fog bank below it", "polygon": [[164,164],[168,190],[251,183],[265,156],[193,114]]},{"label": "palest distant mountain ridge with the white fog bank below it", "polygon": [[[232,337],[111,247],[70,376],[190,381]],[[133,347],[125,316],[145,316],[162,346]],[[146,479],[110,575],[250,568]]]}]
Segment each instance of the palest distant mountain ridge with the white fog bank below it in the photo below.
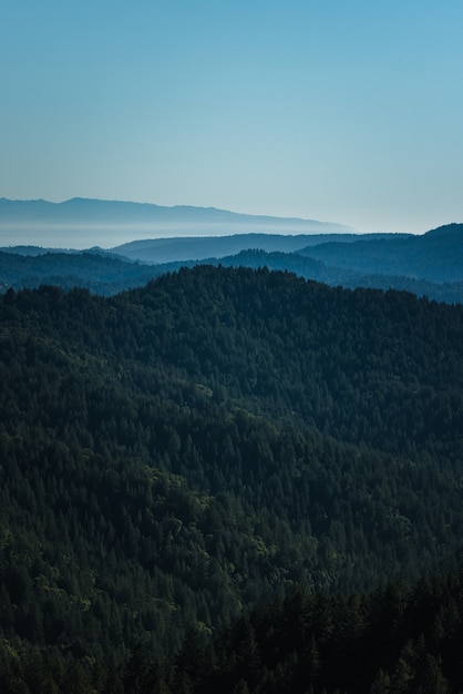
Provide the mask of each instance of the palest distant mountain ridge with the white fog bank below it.
[{"label": "palest distant mountain ridge with the white fog bank below it", "polygon": [[[68,243],[65,239],[73,238],[79,242],[79,234],[83,234],[85,238],[91,234],[94,235],[96,241],[89,246],[110,247],[140,238],[172,236],[223,236],[240,233],[320,234],[351,231],[347,226],[329,222],[239,214],[215,207],[185,205],[165,207],[80,197],[63,203],[0,198],[0,236],[8,239],[2,245],[76,247],[76,242]],[[44,244],[43,241],[41,243],[40,233],[45,232],[58,232],[60,235],[55,236],[56,243]],[[101,239],[104,239],[104,243]],[[80,243],[79,247],[88,246]]]}]

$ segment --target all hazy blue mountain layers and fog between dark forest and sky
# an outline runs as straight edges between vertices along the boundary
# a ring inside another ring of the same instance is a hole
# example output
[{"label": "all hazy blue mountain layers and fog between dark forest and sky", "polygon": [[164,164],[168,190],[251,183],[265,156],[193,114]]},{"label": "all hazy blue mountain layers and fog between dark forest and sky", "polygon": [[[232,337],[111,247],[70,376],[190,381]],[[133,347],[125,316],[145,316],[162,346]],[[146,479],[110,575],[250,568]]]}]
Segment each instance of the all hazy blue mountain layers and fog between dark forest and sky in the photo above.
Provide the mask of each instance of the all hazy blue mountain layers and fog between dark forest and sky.
[{"label": "all hazy blue mountain layers and fog between dark forest and sky", "polygon": [[[421,235],[361,235],[312,220],[215,208],[1,198],[0,233],[18,242],[0,247],[0,290],[51,284],[110,295],[200,263],[266,266],[332,286],[394,288],[463,303],[463,224]],[[92,245],[97,234],[106,242],[135,239],[103,249]],[[72,238],[76,247],[89,242],[88,249],[56,248]]]}]

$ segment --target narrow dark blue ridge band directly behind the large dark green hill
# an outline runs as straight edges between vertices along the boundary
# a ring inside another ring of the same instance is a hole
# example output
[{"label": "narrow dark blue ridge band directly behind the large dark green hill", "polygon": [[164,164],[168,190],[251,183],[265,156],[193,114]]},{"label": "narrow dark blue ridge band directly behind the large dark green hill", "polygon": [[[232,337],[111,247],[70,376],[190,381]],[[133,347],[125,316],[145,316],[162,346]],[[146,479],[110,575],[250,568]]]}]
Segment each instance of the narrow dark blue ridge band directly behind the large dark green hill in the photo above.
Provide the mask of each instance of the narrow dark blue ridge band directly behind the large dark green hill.
[{"label": "narrow dark blue ridge band directly behind the large dark green hill", "polygon": [[91,252],[51,253],[43,248],[19,248],[16,254],[0,252],[0,292],[9,287],[21,289],[54,285],[65,290],[84,287],[94,294],[111,296],[124,289],[140,287],[154,277],[174,272],[182,266],[196,264],[224,265],[227,267],[268,267],[289,271],[306,279],[323,282],[331,286],[400,289],[430,299],[463,303],[463,282],[433,283],[405,276],[384,274],[367,275],[352,269],[333,267],[297,253],[266,253],[241,251],[222,258],[207,261],[177,261],[157,265],[131,262],[101,249]]}]

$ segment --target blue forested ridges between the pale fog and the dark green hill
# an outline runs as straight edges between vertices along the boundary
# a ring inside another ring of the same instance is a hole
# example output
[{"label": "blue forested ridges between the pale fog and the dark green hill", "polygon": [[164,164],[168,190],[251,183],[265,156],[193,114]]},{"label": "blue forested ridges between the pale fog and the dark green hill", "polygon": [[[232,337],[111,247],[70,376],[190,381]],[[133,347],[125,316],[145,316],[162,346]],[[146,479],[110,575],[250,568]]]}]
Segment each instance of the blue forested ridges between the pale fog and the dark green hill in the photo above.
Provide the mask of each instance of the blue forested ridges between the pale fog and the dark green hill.
[{"label": "blue forested ridges between the pale fog and the dark green hill", "polygon": [[206,263],[287,269],[331,286],[403,289],[436,300],[463,303],[462,257],[462,224],[416,236],[249,232],[164,237],[135,241],[111,252],[92,248],[64,253],[13,246],[0,248],[0,292],[53,284],[65,289],[86,287],[107,296],[142,286],[165,272]]}]

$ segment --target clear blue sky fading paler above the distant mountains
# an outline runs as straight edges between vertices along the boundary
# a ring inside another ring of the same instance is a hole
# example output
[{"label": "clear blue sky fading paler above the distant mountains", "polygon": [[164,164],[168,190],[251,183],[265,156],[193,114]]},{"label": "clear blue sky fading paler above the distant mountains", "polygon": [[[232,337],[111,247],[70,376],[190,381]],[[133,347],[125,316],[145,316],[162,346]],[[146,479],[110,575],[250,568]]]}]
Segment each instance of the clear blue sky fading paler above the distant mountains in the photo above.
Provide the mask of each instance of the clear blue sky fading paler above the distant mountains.
[{"label": "clear blue sky fading paler above the distant mountains", "polygon": [[463,222],[462,0],[3,0],[0,196]]}]

